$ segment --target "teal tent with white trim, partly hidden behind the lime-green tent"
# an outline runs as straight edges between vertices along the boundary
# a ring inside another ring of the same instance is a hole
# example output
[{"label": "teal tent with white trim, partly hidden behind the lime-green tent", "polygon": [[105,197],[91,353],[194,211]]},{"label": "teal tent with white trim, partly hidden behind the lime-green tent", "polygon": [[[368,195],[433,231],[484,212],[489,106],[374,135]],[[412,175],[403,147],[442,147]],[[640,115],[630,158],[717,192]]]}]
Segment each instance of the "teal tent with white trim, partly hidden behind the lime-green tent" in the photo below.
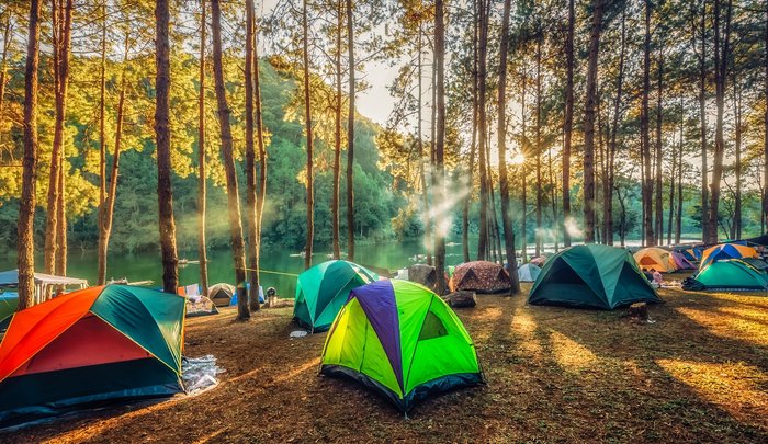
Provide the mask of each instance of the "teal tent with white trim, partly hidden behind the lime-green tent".
[{"label": "teal tent with white trim, partly hidden behind the lime-green tent", "polygon": [[313,332],[325,331],[347,301],[349,291],[377,278],[372,271],[352,262],[317,264],[296,278],[293,318]]}]

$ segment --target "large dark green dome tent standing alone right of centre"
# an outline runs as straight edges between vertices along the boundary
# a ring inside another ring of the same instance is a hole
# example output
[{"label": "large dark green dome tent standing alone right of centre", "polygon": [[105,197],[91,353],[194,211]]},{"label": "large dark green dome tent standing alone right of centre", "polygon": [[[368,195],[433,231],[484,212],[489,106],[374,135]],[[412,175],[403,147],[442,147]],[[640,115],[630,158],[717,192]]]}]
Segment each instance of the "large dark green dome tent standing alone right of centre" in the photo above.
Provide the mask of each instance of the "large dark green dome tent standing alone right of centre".
[{"label": "large dark green dome tent standing alone right of centre", "polygon": [[591,243],[561,250],[546,261],[528,296],[532,305],[605,310],[660,301],[629,251]]}]

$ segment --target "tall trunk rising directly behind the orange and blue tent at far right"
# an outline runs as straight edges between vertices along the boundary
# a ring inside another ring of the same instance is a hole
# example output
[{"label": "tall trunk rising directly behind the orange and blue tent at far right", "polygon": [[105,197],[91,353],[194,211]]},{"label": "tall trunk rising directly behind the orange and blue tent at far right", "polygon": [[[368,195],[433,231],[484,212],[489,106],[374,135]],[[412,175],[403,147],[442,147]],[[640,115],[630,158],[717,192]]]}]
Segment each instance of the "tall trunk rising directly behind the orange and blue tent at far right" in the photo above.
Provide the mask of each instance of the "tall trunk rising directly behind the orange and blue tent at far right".
[{"label": "tall trunk rising directly behind the orange and blue tent at far right", "polygon": [[714,1],[714,60],[715,60],[715,103],[718,106],[718,119],[714,134],[714,156],[712,160],[712,185],[710,189],[710,214],[707,226],[708,243],[718,242],[718,223],[720,209],[720,186],[723,178],[723,157],[725,155],[725,139],[723,136],[723,109],[725,105],[725,80],[730,56],[731,11],[733,2],[727,1],[725,10],[725,30],[723,43],[720,43],[720,0]]}]

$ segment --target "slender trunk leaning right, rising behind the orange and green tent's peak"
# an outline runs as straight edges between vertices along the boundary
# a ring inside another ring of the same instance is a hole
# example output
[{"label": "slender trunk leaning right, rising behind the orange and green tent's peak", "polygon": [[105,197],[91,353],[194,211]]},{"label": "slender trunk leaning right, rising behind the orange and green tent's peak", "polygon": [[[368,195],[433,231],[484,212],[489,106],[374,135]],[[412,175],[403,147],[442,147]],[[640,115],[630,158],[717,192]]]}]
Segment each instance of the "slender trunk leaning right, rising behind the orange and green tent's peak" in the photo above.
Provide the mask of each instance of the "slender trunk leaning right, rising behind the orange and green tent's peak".
[{"label": "slender trunk leaning right, rising behind the orange and green tent's peak", "polygon": [[101,226],[99,227],[99,278],[101,280],[101,285],[106,281],[106,253],[109,252],[110,236],[112,234],[112,219],[114,215],[115,200],[117,197],[117,177],[120,173],[120,153],[121,145],[123,139],[123,119],[125,109],[125,67],[128,61],[128,50],[129,50],[129,34],[125,34],[125,47],[123,50],[123,75],[121,79],[120,87],[120,98],[117,99],[117,122],[115,124],[115,145],[114,151],[112,153],[112,172],[110,175],[110,187],[104,201],[104,205],[100,208],[99,220]]}]

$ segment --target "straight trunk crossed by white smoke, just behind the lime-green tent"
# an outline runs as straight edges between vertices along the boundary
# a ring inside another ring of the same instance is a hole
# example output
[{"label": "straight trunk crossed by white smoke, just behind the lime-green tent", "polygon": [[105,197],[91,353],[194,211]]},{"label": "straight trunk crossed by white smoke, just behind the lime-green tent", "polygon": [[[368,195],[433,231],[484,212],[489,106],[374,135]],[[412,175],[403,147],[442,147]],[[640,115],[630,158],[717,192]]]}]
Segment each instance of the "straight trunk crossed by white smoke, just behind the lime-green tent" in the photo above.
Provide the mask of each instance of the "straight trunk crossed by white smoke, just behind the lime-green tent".
[{"label": "straight trunk crossed by white smoke, just behind the lime-green tent", "polygon": [[[351,0],[347,0],[348,4]],[[445,25],[443,23],[445,12],[443,11],[443,1],[434,1],[434,56],[437,62],[437,94],[438,94],[438,119],[437,119],[437,140],[434,144],[434,161],[436,174],[433,175],[434,183],[434,206],[442,208],[445,201]],[[434,227],[434,269],[437,270],[436,291],[439,295],[447,293],[445,287],[445,232],[437,224]]]}]

